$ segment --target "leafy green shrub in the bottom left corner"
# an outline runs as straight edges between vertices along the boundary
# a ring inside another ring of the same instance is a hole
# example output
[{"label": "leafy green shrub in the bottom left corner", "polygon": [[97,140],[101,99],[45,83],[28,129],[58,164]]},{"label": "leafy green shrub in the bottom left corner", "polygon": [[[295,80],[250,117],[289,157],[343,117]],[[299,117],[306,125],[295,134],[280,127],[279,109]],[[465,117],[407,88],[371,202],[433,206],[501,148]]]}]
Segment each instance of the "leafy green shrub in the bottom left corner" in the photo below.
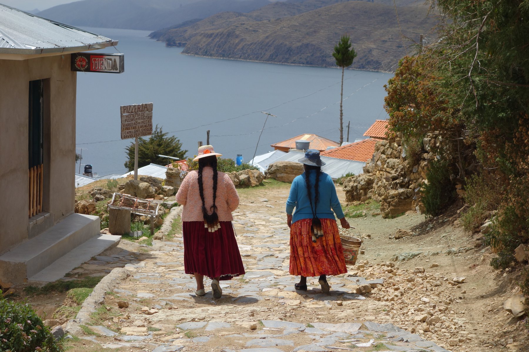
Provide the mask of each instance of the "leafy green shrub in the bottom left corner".
[{"label": "leafy green shrub in the bottom left corner", "polygon": [[51,335],[28,303],[0,297],[0,350],[5,352],[60,352],[62,344]]}]

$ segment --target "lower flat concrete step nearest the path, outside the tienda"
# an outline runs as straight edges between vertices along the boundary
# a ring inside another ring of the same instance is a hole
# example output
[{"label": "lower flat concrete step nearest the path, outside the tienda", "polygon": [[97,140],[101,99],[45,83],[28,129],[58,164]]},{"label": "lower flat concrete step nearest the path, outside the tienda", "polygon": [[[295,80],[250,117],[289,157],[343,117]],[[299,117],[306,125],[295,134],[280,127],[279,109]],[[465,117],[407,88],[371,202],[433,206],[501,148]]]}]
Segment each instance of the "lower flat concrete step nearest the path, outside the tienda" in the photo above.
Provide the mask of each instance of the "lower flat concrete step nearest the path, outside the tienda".
[{"label": "lower flat concrete step nearest the path, outside the tienda", "polygon": [[101,254],[109,248],[113,248],[120,242],[121,236],[101,234],[89,239],[77,248],[69,251],[57,259],[44,270],[28,278],[30,281],[53,282],[64,277],[64,275],[87,262],[93,256]]}]

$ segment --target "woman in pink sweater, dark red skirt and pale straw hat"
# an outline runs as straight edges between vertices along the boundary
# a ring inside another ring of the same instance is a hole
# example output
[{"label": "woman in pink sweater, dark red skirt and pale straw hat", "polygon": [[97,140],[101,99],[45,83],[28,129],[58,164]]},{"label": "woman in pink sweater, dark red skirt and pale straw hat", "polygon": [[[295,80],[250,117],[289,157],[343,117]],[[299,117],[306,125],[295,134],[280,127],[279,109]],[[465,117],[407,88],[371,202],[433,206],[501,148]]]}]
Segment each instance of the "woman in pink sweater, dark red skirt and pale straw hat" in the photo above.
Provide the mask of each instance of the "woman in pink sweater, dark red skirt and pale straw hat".
[{"label": "woman in pink sweater, dark red skirt and pale straw hat", "polygon": [[194,274],[197,296],[206,294],[204,276],[212,278],[214,298],[221,298],[219,280],[244,274],[235,240],[232,214],[239,206],[239,196],[228,175],[217,172],[217,157],[212,146],[198,148],[198,170],[184,178],[176,201],[184,206],[184,267]]}]

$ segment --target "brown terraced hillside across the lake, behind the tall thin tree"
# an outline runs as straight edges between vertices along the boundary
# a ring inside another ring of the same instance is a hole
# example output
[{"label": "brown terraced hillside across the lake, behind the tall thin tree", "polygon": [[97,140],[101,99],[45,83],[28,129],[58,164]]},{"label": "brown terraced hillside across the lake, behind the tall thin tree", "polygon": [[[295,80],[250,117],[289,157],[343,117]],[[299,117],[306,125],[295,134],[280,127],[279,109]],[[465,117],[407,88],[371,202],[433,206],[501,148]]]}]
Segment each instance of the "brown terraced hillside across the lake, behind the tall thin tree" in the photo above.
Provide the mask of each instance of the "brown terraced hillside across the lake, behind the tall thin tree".
[{"label": "brown terraced hillside across the lake, behind the tall thin tree", "polygon": [[334,44],[348,33],[358,52],[352,68],[393,71],[412,51],[405,37],[418,41],[436,24],[424,5],[397,6],[397,21],[393,3],[327,1],[332,4],[309,8],[316,3],[273,3],[248,14],[221,13],[152,36],[169,46],[184,46],[184,54],[335,66]]}]

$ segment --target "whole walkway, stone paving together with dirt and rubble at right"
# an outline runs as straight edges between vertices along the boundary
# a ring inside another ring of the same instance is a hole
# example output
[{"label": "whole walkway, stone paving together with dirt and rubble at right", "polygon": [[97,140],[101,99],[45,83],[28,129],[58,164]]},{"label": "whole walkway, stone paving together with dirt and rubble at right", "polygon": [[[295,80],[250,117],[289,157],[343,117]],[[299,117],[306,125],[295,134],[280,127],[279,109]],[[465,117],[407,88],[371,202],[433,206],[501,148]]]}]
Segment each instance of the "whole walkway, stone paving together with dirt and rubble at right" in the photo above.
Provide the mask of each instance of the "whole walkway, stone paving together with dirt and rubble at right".
[{"label": "whole walkway, stone paving together with dirt and rubble at right", "polygon": [[[297,278],[288,274],[289,186],[239,190],[234,227],[247,273],[221,282],[221,299],[213,299],[209,280],[206,296],[195,296],[180,236],[154,241],[148,253],[136,253],[125,265],[131,277],[108,292],[107,310],[94,315],[94,324],[111,330],[88,327],[103,335],[88,334],[72,350],[479,352],[499,350],[502,343],[524,350],[521,322],[501,309],[515,279],[498,278],[487,251],[475,249],[448,219],[351,219],[364,239],[357,265],[329,278],[330,294],[321,292],[316,278],[309,278],[307,292],[296,292]],[[343,200],[341,189],[339,196]],[[414,235],[390,239],[398,229],[414,229]],[[371,292],[355,293],[362,284]],[[129,307],[120,309],[117,301]],[[370,340],[369,347],[355,346]]]}]

